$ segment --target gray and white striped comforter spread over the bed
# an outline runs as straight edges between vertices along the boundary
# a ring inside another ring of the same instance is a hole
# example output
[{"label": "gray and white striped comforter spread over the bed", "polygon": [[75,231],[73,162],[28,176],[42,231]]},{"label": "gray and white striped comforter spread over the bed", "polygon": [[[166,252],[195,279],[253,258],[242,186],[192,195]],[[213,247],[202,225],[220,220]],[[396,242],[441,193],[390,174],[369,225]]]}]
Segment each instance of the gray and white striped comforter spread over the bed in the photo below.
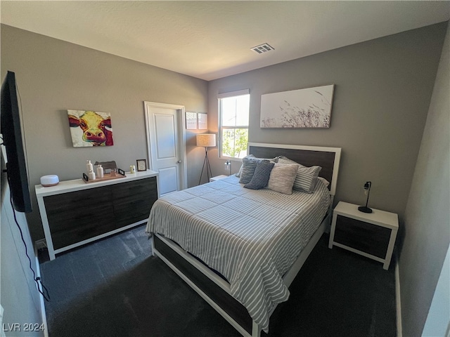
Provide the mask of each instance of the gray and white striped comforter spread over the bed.
[{"label": "gray and white striped comforter spread over the bed", "polygon": [[318,182],[312,194],[248,190],[230,176],[167,194],[153,205],[147,232],[177,242],[230,284],[231,295],[269,329],[269,315],[288,300],[283,275],[319,227],[330,201]]}]

